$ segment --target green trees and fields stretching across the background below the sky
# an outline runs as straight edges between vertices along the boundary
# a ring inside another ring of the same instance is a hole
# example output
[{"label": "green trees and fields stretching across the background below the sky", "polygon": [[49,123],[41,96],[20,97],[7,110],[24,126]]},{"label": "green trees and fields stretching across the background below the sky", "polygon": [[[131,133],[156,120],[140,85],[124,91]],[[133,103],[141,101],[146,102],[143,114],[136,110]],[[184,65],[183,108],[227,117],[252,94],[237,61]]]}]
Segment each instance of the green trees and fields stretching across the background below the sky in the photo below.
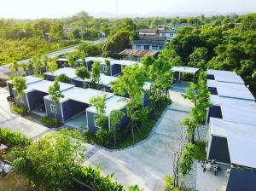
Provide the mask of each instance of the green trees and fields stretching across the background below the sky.
[{"label": "green trees and fields stretching across the background below the sky", "polygon": [[96,46],[82,43],[77,56],[119,59],[119,51],[131,47],[138,29],[181,23],[187,26],[178,28],[177,37],[163,50],[173,66],[236,71],[256,94],[256,14],[102,19],[80,12],[61,19],[1,19],[0,64],[98,38],[108,39]]}]

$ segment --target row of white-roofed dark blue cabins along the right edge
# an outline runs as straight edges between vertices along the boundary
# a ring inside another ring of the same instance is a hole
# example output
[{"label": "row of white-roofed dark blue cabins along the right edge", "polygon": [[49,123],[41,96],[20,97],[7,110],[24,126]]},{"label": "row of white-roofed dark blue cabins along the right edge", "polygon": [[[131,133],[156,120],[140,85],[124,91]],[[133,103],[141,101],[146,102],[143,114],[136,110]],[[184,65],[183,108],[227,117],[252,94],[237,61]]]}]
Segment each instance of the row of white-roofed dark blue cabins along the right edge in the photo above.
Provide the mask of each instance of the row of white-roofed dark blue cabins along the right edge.
[{"label": "row of white-roofed dark blue cabins along the right edge", "polygon": [[208,70],[207,159],[231,165],[228,191],[256,190],[256,103],[236,72]]}]

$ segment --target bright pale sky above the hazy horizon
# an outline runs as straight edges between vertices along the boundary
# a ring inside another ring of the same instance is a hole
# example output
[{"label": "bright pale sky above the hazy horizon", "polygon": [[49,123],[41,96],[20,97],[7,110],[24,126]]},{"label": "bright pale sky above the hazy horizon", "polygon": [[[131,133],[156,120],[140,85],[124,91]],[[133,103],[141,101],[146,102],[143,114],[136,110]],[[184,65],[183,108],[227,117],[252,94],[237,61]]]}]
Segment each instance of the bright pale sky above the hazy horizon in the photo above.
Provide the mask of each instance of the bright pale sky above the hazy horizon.
[{"label": "bright pale sky above the hazy horizon", "polygon": [[[118,14],[256,13],[256,0],[118,0]],[[116,0],[0,0],[0,17],[38,19],[65,17],[86,11],[97,17],[116,14]],[[107,14],[108,13],[108,14]]]}]

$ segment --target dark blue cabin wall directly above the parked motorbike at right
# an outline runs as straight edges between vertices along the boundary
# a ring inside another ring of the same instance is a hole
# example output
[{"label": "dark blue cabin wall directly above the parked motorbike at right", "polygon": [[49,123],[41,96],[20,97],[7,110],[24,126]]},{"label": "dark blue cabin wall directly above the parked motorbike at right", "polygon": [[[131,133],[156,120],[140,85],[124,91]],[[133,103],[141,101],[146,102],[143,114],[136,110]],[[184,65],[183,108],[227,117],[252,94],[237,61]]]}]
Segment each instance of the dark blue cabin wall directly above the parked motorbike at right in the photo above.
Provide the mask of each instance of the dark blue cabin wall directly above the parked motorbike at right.
[{"label": "dark blue cabin wall directly above the parked motorbike at right", "polygon": [[208,159],[216,159],[218,162],[230,164],[230,152],[226,138],[212,136]]}]

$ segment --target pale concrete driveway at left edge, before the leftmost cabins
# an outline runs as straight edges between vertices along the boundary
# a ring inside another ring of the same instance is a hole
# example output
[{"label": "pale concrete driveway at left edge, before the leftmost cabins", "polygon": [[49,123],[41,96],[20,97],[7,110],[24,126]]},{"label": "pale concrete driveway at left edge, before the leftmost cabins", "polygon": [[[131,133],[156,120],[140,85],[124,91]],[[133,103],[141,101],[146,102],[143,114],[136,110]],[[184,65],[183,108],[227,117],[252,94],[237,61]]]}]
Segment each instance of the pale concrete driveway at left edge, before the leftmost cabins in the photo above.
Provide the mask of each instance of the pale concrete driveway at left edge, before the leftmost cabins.
[{"label": "pale concrete driveway at left edge, before the leftmost cabins", "polygon": [[49,129],[41,124],[25,119],[20,115],[11,113],[9,102],[7,101],[9,92],[0,88],[0,128],[9,130],[20,130],[20,132],[29,137],[38,137],[48,132]]}]

